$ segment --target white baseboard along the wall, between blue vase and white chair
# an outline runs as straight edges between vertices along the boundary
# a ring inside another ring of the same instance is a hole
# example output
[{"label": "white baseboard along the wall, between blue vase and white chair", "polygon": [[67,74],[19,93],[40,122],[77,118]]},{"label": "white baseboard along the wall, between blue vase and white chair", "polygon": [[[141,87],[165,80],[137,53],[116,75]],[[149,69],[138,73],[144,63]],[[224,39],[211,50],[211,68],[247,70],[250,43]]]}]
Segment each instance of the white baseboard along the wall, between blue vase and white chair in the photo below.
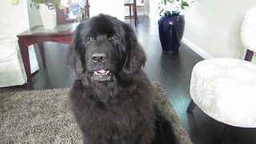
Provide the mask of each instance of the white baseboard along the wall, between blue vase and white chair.
[{"label": "white baseboard along the wall, between blue vase and white chair", "polygon": [[186,46],[189,46],[191,50],[194,50],[194,52],[197,53],[198,55],[200,55],[202,58],[204,58],[204,59],[214,58],[214,57],[211,56],[210,54],[206,53],[206,51],[204,51],[204,50],[202,50],[200,47],[196,46],[193,42],[191,42],[191,41],[188,40],[187,38],[183,37],[183,38],[182,38],[182,42],[183,42]]}]

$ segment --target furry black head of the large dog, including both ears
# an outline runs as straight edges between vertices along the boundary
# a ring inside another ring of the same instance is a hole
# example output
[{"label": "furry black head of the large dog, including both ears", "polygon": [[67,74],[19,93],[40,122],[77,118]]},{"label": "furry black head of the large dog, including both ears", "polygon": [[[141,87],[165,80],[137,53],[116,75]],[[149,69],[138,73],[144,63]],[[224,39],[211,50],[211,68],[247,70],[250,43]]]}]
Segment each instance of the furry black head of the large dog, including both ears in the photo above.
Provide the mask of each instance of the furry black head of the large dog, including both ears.
[{"label": "furry black head of the large dog, including both ears", "polygon": [[69,65],[91,81],[115,81],[141,70],[146,54],[125,22],[100,14],[81,22],[70,44]]}]

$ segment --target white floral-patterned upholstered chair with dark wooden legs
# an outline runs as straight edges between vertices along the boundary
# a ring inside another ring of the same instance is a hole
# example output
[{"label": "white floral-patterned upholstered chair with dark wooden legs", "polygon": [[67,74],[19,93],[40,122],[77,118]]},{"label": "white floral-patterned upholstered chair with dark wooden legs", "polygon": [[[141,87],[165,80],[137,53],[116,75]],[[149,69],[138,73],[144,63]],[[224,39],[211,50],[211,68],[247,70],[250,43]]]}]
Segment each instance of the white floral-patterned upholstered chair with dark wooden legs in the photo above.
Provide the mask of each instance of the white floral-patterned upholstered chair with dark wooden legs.
[{"label": "white floral-patterned upholstered chair with dark wooden legs", "polygon": [[[256,50],[256,6],[246,12],[241,39],[247,50],[246,61],[236,58],[207,59],[198,62],[191,74],[192,101],[187,112],[198,106],[217,120],[221,128],[226,124],[256,127],[256,64],[248,62]],[[221,141],[222,132],[215,136],[217,142]]]}]

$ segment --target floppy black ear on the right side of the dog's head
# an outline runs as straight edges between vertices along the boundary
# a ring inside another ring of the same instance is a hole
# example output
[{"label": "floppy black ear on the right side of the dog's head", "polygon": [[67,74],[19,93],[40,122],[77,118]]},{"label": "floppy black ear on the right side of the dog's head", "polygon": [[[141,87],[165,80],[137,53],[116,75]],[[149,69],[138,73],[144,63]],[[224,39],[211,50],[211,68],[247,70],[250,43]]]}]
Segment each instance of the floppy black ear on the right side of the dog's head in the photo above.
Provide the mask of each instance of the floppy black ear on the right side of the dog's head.
[{"label": "floppy black ear on the right side of the dog's head", "polygon": [[146,54],[142,46],[138,43],[133,30],[130,30],[130,33],[127,34],[125,46],[128,54],[126,55],[123,71],[126,74],[131,74],[140,70],[142,66],[145,66]]}]

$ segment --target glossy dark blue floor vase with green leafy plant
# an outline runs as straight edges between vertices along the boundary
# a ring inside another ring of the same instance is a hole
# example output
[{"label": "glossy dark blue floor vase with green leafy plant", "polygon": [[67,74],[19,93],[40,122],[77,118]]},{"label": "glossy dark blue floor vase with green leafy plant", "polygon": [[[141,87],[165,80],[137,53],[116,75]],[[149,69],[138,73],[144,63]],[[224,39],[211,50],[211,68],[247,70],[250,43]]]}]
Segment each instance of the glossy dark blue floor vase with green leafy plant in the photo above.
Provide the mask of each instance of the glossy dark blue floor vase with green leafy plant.
[{"label": "glossy dark blue floor vase with green leafy plant", "polygon": [[168,52],[178,51],[185,28],[184,15],[181,10],[189,7],[194,0],[158,0],[159,38],[162,50]]}]

